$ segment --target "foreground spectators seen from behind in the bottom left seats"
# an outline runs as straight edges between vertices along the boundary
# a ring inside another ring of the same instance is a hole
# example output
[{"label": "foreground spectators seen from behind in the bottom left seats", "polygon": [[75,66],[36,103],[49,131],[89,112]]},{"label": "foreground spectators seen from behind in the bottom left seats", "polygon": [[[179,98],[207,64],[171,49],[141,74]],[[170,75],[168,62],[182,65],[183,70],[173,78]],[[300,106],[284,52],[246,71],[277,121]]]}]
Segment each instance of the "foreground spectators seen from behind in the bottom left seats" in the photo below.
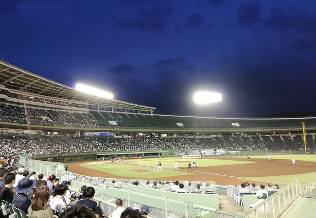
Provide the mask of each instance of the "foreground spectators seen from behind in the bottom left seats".
[{"label": "foreground spectators seen from behind in the bottom left seats", "polygon": [[[18,174],[14,168],[1,167],[0,200],[11,203],[33,218],[104,217],[97,202],[93,201],[93,187],[83,186],[82,191],[77,193],[69,189],[70,181],[59,183],[60,180],[55,175],[51,175],[46,181],[43,180],[43,174],[38,177],[35,174],[29,173],[23,167],[18,169]],[[150,211],[147,205],[139,209],[124,209],[121,199],[117,199],[115,204],[116,209],[109,218],[142,218],[147,217]],[[4,209],[3,207],[0,213],[3,213]],[[6,210],[5,213],[10,212]]]}]

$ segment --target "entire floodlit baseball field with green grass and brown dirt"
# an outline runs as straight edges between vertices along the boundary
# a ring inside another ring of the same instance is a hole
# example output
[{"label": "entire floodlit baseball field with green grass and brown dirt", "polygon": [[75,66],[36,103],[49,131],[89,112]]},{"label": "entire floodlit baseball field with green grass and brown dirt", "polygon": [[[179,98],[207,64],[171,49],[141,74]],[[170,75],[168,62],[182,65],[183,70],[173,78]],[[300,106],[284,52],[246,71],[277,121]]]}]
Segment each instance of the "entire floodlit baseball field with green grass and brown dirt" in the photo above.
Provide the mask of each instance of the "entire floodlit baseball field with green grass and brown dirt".
[{"label": "entire floodlit baseball field with green grass and brown dirt", "polygon": [[[296,160],[293,166],[291,157]],[[201,180],[215,181],[218,185],[240,184],[242,182],[287,184],[296,178],[301,184],[316,180],[316,155],[275,155],[268,161],[267,156],[214,156],[199,159],[187,157],[160,157],[122,159],[119,163],[109,160],[74,162],[68,170],[87,176],[105,178],[155,179],[163,181]],[[162,171],[157,171],[158,162]],[[175,163],[179,162],[179,170]],[[197,163],[197,168],[188,170],[188,164]]]}]

